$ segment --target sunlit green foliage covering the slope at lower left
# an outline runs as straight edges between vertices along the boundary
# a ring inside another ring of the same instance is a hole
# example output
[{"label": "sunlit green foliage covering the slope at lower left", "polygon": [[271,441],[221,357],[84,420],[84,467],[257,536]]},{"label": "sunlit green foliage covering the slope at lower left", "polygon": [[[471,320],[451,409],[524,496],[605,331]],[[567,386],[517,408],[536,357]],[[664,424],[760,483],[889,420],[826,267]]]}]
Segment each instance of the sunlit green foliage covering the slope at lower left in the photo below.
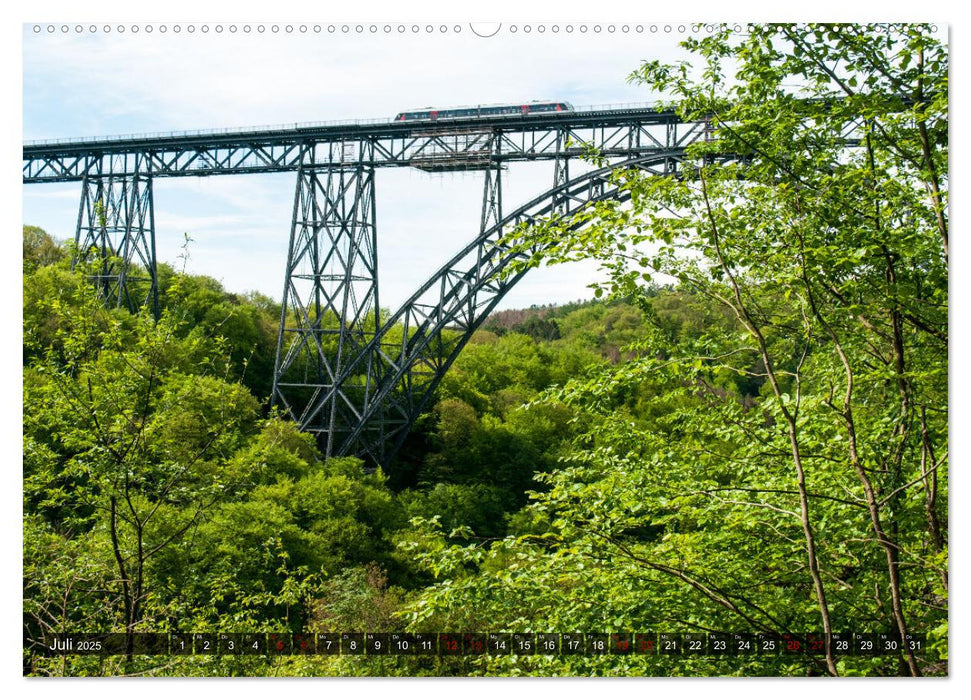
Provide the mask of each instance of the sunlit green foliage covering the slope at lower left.
[{"label": "sunlit green foliage covering the slope at lower left", "polygon": [[[305,629],[322,586],[345,568],[380,562],[401,575],[391,550],[405,511],[380,472],[324,463],[312,436],[260,420],[226,337],[205,318],[177,304],[157,322],[107,310],[83,270],[58,265],[25,275],[29,639]],[[168,300],[199,289],[219,292],[175,277]],[[150,667],[131,656],[25,656],[38,675]]]}]

